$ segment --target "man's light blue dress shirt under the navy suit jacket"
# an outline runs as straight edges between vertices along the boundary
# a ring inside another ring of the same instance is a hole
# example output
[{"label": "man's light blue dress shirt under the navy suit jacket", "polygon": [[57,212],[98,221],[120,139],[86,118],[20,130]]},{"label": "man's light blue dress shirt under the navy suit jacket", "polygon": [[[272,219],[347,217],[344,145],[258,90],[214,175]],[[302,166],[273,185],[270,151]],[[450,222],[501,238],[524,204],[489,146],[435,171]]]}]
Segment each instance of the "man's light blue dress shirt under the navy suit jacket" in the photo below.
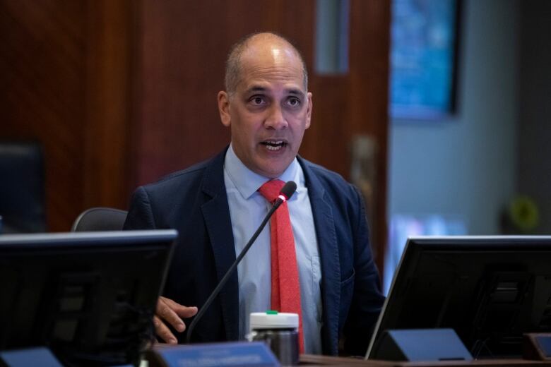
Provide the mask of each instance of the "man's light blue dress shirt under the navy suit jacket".
[{"label": "man's light blue dress shirt under the navy suit jacket", "polygon": [[[288,201],[295,236],[299,267],[300,301],[304,352],[321,354],[321,266],[318,243],[304,173],[297,159],[278,177],[281,181],[295,181],[297,191]],[[268,181],[248,169],[235,155],[231,145],[224,161],[224,182],[230,205],[236,256],[259,227],[271,204],[258,192]],[[237,265],[239,278],[239,338],[249,332],[249,314],[270,309],[271,260],[270,224]]]}]

